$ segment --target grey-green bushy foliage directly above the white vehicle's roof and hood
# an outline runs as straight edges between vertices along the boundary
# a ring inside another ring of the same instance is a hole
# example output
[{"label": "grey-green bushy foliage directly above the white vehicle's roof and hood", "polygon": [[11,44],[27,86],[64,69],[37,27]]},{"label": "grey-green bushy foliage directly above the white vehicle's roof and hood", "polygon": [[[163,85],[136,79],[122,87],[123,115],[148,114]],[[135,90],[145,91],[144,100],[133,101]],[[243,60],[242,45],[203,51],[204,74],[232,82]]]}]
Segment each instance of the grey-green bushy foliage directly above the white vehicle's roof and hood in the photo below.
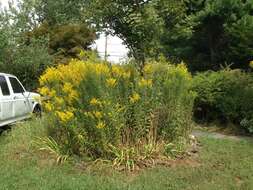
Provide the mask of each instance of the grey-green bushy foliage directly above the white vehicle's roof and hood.
[{"label": "grey-green bushy foliage directly above the white vehicle's roof and hood", "polygon": [[32,40],[29,45],[6,47],[0,59],[1,72],[17,76],[27,89],[37,88],[39,76],[52,66],[45,43],[45,40]]}]

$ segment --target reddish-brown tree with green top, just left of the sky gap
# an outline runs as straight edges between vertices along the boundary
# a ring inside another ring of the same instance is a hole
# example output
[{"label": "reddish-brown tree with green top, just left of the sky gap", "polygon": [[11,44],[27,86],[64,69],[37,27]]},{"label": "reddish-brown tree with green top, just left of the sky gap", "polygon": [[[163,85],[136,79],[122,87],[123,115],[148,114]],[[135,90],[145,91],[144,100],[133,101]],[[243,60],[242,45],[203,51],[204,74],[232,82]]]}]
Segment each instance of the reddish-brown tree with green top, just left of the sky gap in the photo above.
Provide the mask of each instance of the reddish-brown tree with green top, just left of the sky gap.
[{"label": "reddish-brown tree with green top, just left of the sky gap", "polygon": [[[24,2],[30,0],[24,0]],[[32,37],[49,36],[48,50],[55,62],[68,62],[82,50],[89,50],[96,33],[83,16],[83,0],[37,0],[34,6],[40,25],[28,32]]]}]

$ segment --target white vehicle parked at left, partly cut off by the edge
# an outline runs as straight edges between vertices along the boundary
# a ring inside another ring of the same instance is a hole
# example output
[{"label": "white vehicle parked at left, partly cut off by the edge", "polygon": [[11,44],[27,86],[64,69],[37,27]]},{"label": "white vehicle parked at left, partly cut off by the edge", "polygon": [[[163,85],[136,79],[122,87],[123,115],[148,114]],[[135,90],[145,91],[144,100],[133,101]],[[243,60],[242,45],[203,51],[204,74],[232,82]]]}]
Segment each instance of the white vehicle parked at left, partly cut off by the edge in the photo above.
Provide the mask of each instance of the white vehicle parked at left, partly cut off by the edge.
[{"label": "white vehicle parked at left, partly cut off by the edge", "polygon": [[40,95],[27,92],[17,77],[0,73],[0,127],[41,114]]}]

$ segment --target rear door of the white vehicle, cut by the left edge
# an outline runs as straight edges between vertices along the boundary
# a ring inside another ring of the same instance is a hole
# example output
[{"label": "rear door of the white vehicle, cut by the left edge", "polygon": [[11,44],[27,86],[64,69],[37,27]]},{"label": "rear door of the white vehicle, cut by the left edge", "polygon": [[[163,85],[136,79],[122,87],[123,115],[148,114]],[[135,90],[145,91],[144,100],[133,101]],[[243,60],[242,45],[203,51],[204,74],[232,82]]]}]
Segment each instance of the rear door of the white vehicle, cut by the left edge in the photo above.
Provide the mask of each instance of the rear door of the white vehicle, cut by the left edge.
[{"label": "rear door of the white vehicle, cut by the left edge", "polygon": [[0,75],[0,121],[7,121],[14,117],[14,104],[5,76]]}]

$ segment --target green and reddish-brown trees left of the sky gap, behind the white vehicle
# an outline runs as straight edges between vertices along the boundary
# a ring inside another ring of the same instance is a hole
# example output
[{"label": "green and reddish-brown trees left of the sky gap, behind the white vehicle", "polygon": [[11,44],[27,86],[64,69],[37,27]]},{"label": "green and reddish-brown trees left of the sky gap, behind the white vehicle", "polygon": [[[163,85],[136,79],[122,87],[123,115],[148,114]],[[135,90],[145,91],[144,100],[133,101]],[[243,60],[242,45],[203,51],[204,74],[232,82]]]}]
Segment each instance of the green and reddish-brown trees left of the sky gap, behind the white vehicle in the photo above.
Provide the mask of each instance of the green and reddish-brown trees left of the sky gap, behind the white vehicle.
[{"label": "green and reddish-brown trees left of the sky gap, behind the white vehicle", "polygon": [[[38,77],[47,67],[79,58],[80,52],[88,50],[96,38],[86,24],[69,23],[67,18],[56,21],[60,16],[57,11],[64,11],[63,1],[55,2],[61,4],[57,10],[53,10],[53,2],[40,7],[43,2],[17,1],[16,6],[10,3],[8,9],[0,11],[0,70],[16,75],[28,89],[38,87]],[[50,13],[44,14],[40,9],[49,9]],[[51,19],[55,21],[47,20],[54,11],[58,17]]]}]

